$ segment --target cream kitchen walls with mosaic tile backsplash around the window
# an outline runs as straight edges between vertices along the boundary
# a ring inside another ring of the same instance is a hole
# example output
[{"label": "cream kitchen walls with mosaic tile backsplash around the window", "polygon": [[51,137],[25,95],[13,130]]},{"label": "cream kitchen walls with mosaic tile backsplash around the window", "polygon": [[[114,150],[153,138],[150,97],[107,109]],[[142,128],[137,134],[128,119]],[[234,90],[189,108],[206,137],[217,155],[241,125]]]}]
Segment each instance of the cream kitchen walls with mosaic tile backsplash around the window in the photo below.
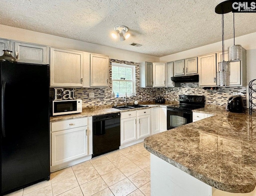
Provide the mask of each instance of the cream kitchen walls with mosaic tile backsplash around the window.
[{"label": "cream kitchen walls with mosaic tile backsplash around the window", "polygon": [[[240,36],[236,38],[236,44],[241,44],[243,48],[247,50],[247,84],[250,80],[256,79],[256,33]],[[206,104],[226,105],[228,97],[232,95],[232,91],[238,91],[239,95],[244,98],[246,91],[245,87],[222,87],[218,91],[204,90],[202,87],[198,87],[198,83],[185,83],[181,87],[174,88],[139,88],[139,69],[138,63],[142,61],[149,62],[169,62],[188,57],[194,57],[207,53],[213,53],[220,51],[222,48],[222,42],[217,42],[207,46],[182,51],[180,53],[167,55],[164,57],[154,57],[150,55],[144,55],[141,53],[110,48],[106,46],[100,46],[97,44],[90,44],[86,42],[80,42],[77,40],[71,40],[68,38],[62,38],[58,36],[52,36],[49,34],[43,34],[39,32],[33,32],[20,28],[14,28],[10,26],[0,25],[0,38],[18,40],[22,42],[31,42],[36,44],[43,44],[47,46],[53,46],[58,48],[75,49],[80,51],[87,51],[92,53],[100,53],[108,55],[110,61],[118,63],[127,63],[129,65],[136,66],[136,97],[129,98],[131,101],[153,101],[156,96],[162,95],[167,100],[177,100],[180,94],[194,94],[205,95]],[[225,46],[233,44],[233,40],[225,40]],[[118,59],[118,60],[115,60]],[[135,63],[134,63],[135,62]],[[110,78],[111,78],[111,63],[110,63]],[[124,99],[112,98],[112,82],[110,80],[108,88],[76,88],[76,95],[83,99],[83,106],[90,105],[106,105],[112,104],[114,101],[117,103],[124,103]],[[247,85],[248,88],[248,85]],[[168,91],[168,95],[166,94]],[[51,94],[53,89],[51,89]],[[89,98],[89,93],[94,92],[95,97]],[[128,99],[128,100],[129,100]],[[248,100],[248,95],[247,95]],[[248,105],[248,104],[247,104]]]}]

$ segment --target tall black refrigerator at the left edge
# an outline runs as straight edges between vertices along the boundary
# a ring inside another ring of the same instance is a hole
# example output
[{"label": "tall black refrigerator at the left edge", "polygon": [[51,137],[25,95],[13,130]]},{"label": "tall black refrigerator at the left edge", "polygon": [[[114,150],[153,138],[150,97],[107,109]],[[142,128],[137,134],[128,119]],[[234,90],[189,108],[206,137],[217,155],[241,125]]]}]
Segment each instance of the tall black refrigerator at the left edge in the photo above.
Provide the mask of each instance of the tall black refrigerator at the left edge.
[{"label": "tall black refrigerator at the left edge", "polygon": [[50,179],[49,65],[0,63],[0,194]]}]

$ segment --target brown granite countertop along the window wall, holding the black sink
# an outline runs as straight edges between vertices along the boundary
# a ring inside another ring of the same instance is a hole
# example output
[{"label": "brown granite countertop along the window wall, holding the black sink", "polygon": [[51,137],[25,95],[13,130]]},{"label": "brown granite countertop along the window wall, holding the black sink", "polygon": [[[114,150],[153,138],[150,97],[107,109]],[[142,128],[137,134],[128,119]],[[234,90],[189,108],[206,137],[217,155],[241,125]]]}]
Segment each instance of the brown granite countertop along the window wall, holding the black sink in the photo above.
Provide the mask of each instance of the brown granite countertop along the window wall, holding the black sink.
[{"label": "brown granite countertop along the window wall, holding the black sink", "polygon": [[164,104],[156,104],[152,101],[151,102],[142,102],[142,103],[140,103],[140,105],[148,105],[148,107],[140,107],[140,108],[134,108],[134,109],[125,109],[125,110],[112,108],[113,105],[86,107],[86,108],[82,109],[82,113],[50,117],[50,122],[63,121],[63,120],[68,120],[68,119],[78,119],[78,118],[82,118],[82,117],[104,115],[104,114],[110,114],[110,113],[116,113],[116,112],[135,111],[135,110],[139,110],[139,109],[147,109],[147,108],[152,108],[152,107],[175,105],[175,104],[178,104],[178,101],[166,101],[166,103],[164,103]]}]

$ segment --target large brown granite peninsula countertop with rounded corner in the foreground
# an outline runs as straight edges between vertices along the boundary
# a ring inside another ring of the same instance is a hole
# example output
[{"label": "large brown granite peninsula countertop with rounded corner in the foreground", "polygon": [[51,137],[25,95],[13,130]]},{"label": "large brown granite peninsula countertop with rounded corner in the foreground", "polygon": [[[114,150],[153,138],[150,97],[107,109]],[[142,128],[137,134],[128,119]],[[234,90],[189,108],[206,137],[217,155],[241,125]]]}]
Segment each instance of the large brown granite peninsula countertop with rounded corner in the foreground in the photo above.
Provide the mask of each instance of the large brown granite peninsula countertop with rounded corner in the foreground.
[{"label": "large brown granite peninsula countertop with rounded corner in the foreground", "polygon": [[256,115],[208,107],[212,117],[147,137],[145,148],[219,190],[252,192],[256,186]]}]

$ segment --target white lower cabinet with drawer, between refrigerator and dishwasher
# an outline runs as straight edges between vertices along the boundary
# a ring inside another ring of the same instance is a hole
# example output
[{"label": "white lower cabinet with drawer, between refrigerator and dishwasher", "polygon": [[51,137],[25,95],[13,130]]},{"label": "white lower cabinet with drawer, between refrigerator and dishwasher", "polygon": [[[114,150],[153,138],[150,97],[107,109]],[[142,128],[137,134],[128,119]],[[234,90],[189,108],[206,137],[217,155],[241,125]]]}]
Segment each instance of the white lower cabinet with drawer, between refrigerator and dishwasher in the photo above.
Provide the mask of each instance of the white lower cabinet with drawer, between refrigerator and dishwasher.
[{"label": "white lower cabinet with drawer, between refrigerator and dishwasher", "polygon": [[51,123],[51,165],[89,155],[91,135],[87,117]]}]

